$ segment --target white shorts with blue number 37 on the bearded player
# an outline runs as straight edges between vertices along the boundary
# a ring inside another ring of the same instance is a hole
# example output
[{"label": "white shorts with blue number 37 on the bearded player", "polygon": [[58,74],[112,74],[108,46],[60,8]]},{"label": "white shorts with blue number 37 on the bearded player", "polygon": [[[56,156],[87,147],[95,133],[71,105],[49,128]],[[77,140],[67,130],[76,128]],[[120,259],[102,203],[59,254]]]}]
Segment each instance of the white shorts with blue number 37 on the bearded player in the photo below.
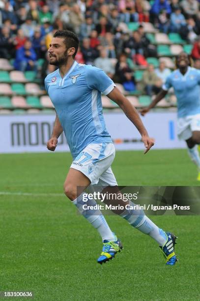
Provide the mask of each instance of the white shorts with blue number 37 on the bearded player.
[{"label": "white shorts with blue number 37 on the bearded player", "polygon": [[70,168],[81,171],[92,185],[115,186],[117,182],[111,169],[114,155],[113,143],[89,144],[73,160]]}]

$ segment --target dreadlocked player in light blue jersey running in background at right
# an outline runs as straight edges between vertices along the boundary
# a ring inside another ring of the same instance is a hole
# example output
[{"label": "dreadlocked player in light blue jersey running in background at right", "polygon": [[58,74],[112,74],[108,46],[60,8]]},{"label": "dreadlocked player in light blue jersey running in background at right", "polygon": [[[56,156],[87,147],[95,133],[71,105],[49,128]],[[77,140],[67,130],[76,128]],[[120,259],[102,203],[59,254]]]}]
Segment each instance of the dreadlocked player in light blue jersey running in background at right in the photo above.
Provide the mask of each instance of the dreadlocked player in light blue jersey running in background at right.
[{"label": "dreadlocked player in light blue jersey running in background at right", "polygon": [[150,105],[141,110],[144,116],[173,87],[177,98],[178,137],[185,140],[191,160],[197,165],[200,181],[200,71],[191,67],[190,57],[181,52],[176,58],[177,69],[167,77],[162,90]]}]

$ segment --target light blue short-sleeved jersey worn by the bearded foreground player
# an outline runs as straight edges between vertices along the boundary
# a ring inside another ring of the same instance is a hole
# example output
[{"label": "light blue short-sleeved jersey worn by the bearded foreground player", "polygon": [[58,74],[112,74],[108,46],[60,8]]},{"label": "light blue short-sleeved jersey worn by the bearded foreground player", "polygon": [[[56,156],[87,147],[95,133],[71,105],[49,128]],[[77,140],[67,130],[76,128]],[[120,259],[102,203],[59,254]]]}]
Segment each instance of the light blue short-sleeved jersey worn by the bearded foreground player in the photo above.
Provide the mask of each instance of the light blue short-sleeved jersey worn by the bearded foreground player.
[{"label": "light blue short-sleeved jersey worn by the bearded foreground player", "polygon": [[76,61],[63,78],[59,69],[45,78],[73,158],[91,143],[112,142],[103,118],[101,92],[107,95],[114,86],[101,69]]}]

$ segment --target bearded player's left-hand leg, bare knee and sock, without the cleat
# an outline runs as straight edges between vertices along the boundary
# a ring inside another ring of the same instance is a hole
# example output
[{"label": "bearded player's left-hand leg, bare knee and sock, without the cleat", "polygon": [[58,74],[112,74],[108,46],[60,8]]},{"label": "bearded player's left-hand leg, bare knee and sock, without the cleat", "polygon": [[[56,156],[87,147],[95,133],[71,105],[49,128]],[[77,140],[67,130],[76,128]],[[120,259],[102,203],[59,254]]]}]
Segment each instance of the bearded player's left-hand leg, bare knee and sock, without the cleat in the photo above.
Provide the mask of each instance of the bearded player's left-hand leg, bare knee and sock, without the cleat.
[{"label": "bearded player's left-hand leg, bare knee and sock, without the cleat", "polygon": [[89,184],[90,180],[81,171],[70,168],[64,182],[64,192],[87,221],[98,230],[102,240],[114,241],[114,234],[101,211],[90,210],[90,207],[95,206],[96,202],[88,199],[87,194],[83,193]]}]

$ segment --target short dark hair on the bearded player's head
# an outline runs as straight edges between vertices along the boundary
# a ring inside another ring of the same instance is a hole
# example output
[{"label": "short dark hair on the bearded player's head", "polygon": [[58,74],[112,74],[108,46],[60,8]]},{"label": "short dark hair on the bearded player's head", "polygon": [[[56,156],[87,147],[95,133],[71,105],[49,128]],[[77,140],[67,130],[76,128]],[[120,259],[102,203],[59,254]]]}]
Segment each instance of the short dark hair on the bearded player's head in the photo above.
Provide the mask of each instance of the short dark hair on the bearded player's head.
[{"label": "short dark hair on the bearded player's head", "polygon": [[54,33],[54,37],[64,38],[64,44],[66,45],[67,49],[69,49],[71,47],[75,48],[75,53],[72,56],[74,59],[77,54],[78,48],[79,48],[79,39],[78,39],[77,35],[70,30],[57,30]]}]

